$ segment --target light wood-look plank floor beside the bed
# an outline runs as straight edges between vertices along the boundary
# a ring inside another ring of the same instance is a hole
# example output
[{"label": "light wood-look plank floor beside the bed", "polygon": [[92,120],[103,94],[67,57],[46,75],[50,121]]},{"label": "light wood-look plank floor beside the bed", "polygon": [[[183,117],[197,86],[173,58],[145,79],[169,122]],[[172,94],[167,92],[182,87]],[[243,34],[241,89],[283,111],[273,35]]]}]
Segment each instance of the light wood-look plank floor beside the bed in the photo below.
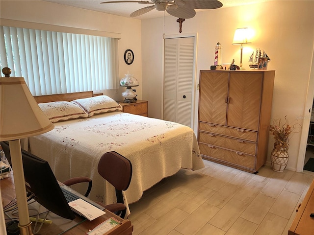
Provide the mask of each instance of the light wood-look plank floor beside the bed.
[{"label": "light wood-look plank floor beside the bed", "polygon": [[251,174],[206,160],[181,169],[130,205],[133,235],[287,235],[314,175]]}]

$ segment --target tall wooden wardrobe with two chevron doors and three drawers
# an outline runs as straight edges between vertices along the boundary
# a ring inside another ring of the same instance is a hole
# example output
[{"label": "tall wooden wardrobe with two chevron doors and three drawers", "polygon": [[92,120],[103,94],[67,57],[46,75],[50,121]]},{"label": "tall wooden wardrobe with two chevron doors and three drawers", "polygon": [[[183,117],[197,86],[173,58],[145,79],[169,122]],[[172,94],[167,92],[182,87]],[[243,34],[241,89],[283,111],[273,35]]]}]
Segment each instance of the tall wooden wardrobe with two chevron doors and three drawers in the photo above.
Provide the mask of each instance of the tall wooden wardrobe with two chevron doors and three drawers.
[{"label": "tall wooden wardrobe with two chevron doors and three drawers", "polygon": [[204,159],[256,173],[265,164],[275,71],[200,71]]}]

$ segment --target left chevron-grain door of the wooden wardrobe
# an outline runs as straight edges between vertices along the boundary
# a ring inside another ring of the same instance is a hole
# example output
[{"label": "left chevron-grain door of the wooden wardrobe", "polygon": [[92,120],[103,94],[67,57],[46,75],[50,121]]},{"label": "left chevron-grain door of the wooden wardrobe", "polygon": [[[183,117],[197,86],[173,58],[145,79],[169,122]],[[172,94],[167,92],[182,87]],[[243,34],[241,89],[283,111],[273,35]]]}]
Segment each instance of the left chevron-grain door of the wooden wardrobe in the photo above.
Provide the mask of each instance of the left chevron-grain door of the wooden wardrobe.
[{"label": "left chevron-grain door of the wooden wardrobe", "polygon": [[199,121],[226,125],[228,74],[201,71]]}]

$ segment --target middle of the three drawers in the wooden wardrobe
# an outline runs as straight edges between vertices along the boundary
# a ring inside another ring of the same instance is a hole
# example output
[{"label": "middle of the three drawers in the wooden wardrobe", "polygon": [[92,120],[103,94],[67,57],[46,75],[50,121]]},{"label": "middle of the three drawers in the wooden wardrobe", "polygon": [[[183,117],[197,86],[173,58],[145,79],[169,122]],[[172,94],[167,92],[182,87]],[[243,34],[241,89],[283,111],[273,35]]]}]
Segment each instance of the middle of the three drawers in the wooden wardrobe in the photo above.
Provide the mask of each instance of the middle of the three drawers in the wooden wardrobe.
[{"label": "middle of the three drawers in the wooden wardrobe", "polygon": [[223,148],[255,155],[256,143],[219,136],[212,133],[199,132],[199,142],[209,143]]}]

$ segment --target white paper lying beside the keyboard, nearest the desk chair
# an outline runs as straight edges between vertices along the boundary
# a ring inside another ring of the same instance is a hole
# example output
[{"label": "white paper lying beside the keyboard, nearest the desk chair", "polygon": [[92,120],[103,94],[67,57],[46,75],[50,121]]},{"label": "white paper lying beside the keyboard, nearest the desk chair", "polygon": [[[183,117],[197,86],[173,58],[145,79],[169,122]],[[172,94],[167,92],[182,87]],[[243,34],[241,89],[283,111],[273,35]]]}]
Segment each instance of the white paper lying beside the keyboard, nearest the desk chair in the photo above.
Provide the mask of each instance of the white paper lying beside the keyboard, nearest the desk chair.
[{"label": "white paper lying beside the keyboard, nearest the desk chair", "polygon": [[105,214],[105,211],[98,209],[97,207],[89,204],[81,198],[73,202],[69,202],[69,206],[78,214],[83,215],[88,220],[96,219],[99,216]]}]

